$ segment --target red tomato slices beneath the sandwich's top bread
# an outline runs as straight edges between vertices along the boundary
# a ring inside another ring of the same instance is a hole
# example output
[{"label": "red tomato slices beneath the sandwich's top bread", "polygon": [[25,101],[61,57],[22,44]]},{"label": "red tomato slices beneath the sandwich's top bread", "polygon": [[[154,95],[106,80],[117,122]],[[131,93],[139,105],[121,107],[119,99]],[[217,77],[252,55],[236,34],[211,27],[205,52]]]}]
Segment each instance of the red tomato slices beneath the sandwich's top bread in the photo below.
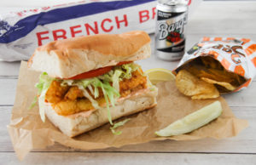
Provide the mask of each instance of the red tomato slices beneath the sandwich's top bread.
[{"label": "red tomato slices beneath the sandwich's top bread", "polygon": [[[131,62],[132,61],[119,62],[117,65],[129,64]],[[99,68],[99,69],[96,69],[96,70],[81,73],[81,74],[79,74],[77,76],[74,76],[74,77],[63,78],[63,79],[64,80],[80,80],[80,79],[85,79],[85,78],[98,77],[98,76],[101,76],[105,73],[108,73],[108,71],[111,71],[112,69],[113,69],[113,65],[106,66],[106,67],[102,67],[102,68]]]}]

